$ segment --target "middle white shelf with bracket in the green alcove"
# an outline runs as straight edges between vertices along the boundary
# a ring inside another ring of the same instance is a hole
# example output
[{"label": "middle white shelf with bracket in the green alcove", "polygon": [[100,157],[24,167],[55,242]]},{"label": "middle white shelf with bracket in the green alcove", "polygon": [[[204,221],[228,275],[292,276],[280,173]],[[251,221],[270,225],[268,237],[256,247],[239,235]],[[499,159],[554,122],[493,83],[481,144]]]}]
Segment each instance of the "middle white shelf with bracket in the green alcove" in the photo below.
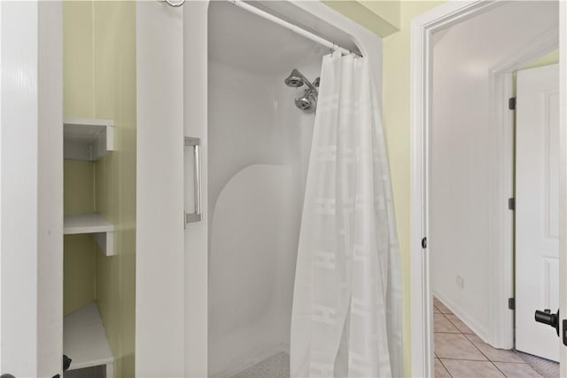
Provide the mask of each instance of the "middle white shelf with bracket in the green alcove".
[{"label": "middle white shelf with bracket in the green alcove", "polygon": [[106,256],[114,255],[113,232],[114,225],[97,213],[66,216],[63,221],[64,234],[92,233],[93,239]]}]

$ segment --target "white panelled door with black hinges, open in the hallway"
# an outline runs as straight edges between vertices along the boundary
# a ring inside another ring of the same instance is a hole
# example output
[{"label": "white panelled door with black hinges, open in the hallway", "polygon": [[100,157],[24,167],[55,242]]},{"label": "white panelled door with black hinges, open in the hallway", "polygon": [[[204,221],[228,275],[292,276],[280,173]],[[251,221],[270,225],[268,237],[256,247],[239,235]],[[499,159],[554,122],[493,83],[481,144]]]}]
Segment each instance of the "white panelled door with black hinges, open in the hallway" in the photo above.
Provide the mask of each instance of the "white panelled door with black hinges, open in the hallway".
[{"label": "white panelled door with black hinges, open in the hallway", "polygon": [[559,67],[517,73],[516,348],[559,361]]}]

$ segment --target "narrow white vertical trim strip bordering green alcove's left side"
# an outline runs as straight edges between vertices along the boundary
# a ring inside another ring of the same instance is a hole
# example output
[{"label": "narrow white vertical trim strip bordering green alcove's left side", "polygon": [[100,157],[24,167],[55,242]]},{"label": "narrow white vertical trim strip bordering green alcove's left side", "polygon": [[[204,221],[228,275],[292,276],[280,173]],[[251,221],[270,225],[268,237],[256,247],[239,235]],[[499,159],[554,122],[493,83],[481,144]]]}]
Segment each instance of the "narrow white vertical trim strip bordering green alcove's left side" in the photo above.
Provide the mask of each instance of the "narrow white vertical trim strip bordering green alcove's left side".
[{"label": "narrow white vertical trim strip bordering green alcove's left side", "polygon": [[63,4],[39,2],[37,371],[62,371],[63,355]]}]

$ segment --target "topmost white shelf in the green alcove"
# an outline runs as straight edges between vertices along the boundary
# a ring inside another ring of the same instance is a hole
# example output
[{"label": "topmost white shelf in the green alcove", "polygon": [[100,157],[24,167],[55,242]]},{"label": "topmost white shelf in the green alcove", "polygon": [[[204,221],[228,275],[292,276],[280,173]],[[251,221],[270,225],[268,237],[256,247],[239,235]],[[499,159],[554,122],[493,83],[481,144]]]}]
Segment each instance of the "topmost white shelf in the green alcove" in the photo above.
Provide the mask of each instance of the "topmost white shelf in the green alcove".
[{"label": "topmost white shelf in the green alcove", "polygon": [[63,121],[63,156],[96,161],[114,150],[113,120],[68,118]]}]

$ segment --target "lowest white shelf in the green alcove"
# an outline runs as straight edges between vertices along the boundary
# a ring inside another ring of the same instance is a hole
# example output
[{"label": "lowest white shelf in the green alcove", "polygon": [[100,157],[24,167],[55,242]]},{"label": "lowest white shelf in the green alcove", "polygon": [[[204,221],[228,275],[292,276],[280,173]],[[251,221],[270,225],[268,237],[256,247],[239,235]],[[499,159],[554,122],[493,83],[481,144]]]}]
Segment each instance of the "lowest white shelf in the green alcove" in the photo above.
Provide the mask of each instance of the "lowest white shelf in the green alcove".
[{"label": "lowest white shelf in the green alcove", "polygon": [[113,365],[97,304],[89,303],[63,319],[63,354],[72,359],[69,370]]}]

